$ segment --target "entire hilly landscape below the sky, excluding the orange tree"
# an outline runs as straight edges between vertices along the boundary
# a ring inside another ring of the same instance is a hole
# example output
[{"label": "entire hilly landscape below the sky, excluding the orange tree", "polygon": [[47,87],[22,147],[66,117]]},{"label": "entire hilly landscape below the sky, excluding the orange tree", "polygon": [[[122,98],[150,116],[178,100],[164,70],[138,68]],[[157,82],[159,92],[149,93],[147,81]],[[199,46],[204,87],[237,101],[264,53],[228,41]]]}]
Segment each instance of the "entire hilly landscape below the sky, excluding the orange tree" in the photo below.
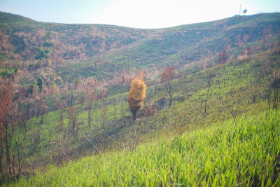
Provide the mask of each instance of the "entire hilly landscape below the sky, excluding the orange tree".
[{"label": "entire hilly landscape below the sky, excluding the orange tree", "polygon": [[279,185],[280,13],[166,29],[0,18],[0,185]]}]

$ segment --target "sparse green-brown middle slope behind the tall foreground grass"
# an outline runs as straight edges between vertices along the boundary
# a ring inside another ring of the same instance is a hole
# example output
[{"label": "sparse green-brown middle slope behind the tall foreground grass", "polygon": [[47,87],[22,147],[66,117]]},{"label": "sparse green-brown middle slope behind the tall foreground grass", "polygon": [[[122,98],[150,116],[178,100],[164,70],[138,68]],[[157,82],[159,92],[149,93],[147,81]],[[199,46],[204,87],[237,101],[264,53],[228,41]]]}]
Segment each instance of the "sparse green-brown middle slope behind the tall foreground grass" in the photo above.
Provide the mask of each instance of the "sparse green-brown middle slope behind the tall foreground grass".
[{"label": "sparse green-brown middle slope behind the tall foreground grass", "polygon": [[[69,135],[66,110],[62,111],[65,124],[63,132],[59,132],[57,127],[59,124],[59,112],[57,111],[46,114],[42,125],[38,125],[40,117],[32,118],[27,125],[25,147],[29,159],[25,158],[25,163],[27,161],[37,164],[51,162],[55,154],[61,153],[57,143],[59,139],[62,141],[68,139],[73,154],[84,155],[87,152],[95,152],[96,150],[92,148],[83,134],[87,134],[87,137],[102,151],[120,151],[123,148],[131,150],[138,144],[151,139],[161,139],[162,134],[173,136],[174,133],[181,134],[184,131],[201,129],[201,127],[207,127],[214,123],[223,123],[223,121],[232,118],[231,112],[236,118],[241,118],[239,116],[244,115],[244,113],[247,116],[254,116],[265,110],[265,80],[258,76],[260,65],[269,60],[273,68],[279,69],[279,64],[277,64],[280,58],[278,50],[276,48],[253,55],[251,60],[232,62],[201,71],[186,79],[175,79],[173,85],[177,85],[177,90],[172,106],[158,110],[153,116],[148,117],[144,117],[139,112],[138,116],[141,119],[136,123],[130,121],[131,114],[127,110],[125,94],[115,95],[98,102],[94,108],[92,126],[87,125],[85,106],[79,105],[80,130],[75,138],[70,138]],[[204,113],[204,102],[202,101],[206,98],[207,93],[205,76],[209,73],[214,73],[216,76],[211,83],[211,97],[209,97],[207,113]],[[256,95],[255,102],[253,102],[253,95]],[[155,104],[158,99],[166,96],[167,92],[163,85],[148,87],[147,102]],[[107,112],[105,115],[104,109]],[[102,123],[105,123],[104,130],[101,128]],[[41,134],[40,144],[37,152],[32,153],[29,147],[33,144],[32,135],[36,134],[37,125]],[[106,138],[104,134],[109,134],[118,143]]]}]

